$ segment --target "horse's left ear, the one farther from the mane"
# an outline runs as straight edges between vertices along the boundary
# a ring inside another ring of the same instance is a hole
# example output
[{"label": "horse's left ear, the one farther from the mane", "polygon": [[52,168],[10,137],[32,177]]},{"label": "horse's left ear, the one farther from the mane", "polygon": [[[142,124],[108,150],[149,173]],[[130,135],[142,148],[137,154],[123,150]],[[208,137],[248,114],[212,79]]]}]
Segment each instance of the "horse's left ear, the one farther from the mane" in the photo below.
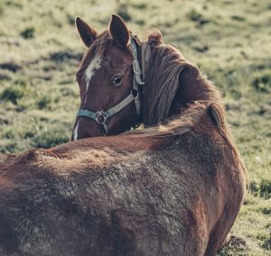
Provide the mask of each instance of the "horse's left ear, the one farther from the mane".
[{"label": "horse's left ear, the one farther from the mane", "polygon": [[89,47],[91,43],[96,39],[98,33],[96,30],[91,29],[89,25],[82,21],[79,17],[75,19],[75,24],[81,40],[87,47]]}]

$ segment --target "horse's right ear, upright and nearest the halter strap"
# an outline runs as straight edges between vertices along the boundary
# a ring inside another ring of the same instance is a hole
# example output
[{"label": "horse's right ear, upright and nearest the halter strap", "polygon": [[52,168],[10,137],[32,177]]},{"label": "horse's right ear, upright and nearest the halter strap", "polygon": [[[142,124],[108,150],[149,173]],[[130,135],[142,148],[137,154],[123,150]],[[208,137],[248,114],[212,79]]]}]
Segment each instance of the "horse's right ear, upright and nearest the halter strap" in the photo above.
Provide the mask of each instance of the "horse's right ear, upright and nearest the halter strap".
[{"label": "horse's right ear, upright and nearest the halter strap", "polygon": [[113,41],[116,42],[118,46],[126,47],[130,40],[130,32],[126,27],[126,23],[120,16],[115,14],[112,15],[108,31]]}]

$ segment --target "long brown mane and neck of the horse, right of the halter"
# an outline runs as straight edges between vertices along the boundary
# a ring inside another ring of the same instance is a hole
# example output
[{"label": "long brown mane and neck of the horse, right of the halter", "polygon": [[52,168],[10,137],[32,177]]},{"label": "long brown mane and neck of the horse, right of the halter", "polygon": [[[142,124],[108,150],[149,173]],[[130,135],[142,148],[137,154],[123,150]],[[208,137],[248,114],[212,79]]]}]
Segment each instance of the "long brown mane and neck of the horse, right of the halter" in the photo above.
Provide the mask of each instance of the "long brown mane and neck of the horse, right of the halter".
[{"label": "long brown mane and neck of the horse, right of the halter", "polygon": [[181,107],[193,101],[214,101],[222,105],[219,90],[200,69],[184,59],[182,53],[165,45],[159,31],[150,33],[151,55],[147,60],[143,123],[151,126],[163,122],[170,114],[174,99]]}]

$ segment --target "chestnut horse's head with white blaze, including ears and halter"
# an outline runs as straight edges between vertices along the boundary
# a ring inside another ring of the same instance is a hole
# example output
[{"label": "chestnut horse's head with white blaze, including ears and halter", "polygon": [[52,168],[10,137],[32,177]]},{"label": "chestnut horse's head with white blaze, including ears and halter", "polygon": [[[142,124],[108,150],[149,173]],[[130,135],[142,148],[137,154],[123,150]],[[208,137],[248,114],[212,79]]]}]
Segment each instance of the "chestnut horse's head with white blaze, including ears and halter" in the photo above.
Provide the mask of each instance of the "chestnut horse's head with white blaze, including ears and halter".
[{"label": "chestnut horse's head with white blaze, including ears and halter", "polygon": [[140,115],[139,42],[117,15],[99,35],[79,18],[76,26],[88,50],[76,75],[81,103],[71,140],[130,130]]}]

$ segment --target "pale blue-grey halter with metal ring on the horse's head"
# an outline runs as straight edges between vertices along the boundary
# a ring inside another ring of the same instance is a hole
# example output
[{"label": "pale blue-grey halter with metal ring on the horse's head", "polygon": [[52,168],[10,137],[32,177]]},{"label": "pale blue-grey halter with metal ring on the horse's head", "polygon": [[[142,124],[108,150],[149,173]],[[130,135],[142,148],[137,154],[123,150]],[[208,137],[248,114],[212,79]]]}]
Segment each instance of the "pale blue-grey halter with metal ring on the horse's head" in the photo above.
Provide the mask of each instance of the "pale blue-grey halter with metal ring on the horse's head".
[{"label": "pale blue-grey halter with metal ring on the horse's head", "polygon": [[94,120],[98,125],[100,126],[100,130],[103,133],[103,135],[107,135],[107,119],[113,116],[114,114],[117,114],[120,110],[124,109],[126,105],[129,105],[133,101],[135,102],[135,110],[137,115],[137,120],[140,117],[140,101],[139,101],[139,93],[138,93],[138,86],[142,86],[145,84],[145,82],[142,81],[140,75],[141,75],[141,69],[139,66],[139,62],[137,59],[137,50],[136,50],[136,43],[135,38],[133,35],[131,35],[130,38],[130,45],[131,50],[133,53],[133,71],[134,71],[134,78],[133,78],[133,88],[128,96],[124,100],[122,100],[117,105],[111,107],[106,112],[104,111],[97,111],[93,112],[87,109],[79,109],[79,112],[77,116],[81,117],[87,117],[89,119]]}]

